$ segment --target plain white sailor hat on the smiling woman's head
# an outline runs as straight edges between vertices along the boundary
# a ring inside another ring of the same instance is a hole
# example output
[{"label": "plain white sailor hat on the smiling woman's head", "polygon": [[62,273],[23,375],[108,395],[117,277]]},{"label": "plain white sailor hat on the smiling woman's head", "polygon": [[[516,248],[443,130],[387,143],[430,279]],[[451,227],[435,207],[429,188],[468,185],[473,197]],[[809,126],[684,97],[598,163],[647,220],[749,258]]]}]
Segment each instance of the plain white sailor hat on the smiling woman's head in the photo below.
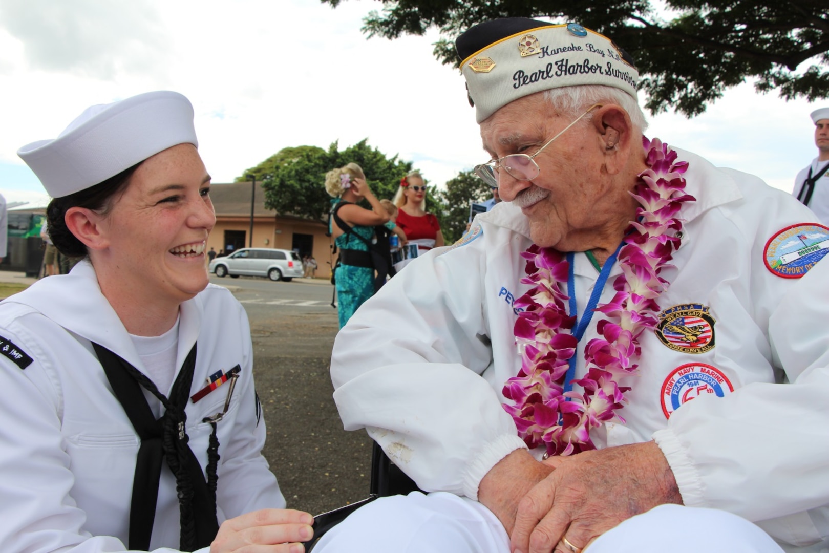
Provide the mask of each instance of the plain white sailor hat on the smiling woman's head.
[{"label": "plain white sailor hat on the smiling woman's head", "polygon": [[198,147],[193,106],[177,92],[147,92],[85,109],[57,138],[17,150],[54,198],[114,177],[177,144]]}]

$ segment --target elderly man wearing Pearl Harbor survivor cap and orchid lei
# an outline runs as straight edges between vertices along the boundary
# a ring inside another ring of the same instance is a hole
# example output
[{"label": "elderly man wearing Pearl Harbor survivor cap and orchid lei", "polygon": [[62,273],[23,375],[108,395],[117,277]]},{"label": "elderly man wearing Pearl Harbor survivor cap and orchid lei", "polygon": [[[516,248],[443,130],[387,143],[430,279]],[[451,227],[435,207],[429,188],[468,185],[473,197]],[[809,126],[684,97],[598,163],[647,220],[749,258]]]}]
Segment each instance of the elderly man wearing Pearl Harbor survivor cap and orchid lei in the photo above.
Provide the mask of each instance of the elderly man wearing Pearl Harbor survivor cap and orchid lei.
[{"label": "elderly man wearing Pearl Harbor survivor cap and orchid lei", "polygon": [[643,138],[604,36],[504,19],[457,46],[504,202],[332,356],[346,428],[429,494],[371,503],[321,551],[823,551],[827,377],[795,386],[769,323],[827,230]]}]

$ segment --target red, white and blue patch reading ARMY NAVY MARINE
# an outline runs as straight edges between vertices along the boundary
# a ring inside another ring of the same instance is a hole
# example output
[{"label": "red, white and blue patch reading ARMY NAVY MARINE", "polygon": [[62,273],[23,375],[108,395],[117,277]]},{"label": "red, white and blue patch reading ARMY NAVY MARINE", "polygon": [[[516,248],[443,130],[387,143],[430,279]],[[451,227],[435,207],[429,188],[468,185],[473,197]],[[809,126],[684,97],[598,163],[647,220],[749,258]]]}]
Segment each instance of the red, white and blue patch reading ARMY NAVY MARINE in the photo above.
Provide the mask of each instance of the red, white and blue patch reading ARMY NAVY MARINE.
[{"label": "red, white and blue patch reading ARMY NAVY MARINE", "polygon": [[686,363],[677,366],[662,383],[662,412],[670,419],[671,413],[701,395],[724,397],[733,391],[734,386],[720,369],[705,363]]}]

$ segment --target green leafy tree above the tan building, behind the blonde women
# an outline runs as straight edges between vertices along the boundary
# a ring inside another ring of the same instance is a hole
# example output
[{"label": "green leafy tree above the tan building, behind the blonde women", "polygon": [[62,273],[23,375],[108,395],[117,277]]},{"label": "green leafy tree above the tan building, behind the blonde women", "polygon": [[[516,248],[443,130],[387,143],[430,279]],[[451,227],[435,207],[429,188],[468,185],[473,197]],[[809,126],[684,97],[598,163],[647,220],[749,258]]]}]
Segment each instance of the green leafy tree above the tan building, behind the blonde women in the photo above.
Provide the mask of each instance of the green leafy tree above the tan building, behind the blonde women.
[{"label": "green leafy tree above the tan building, behind the blonde women", "polygon": [[378,198],[391,198],[412,164],[397,158],[388,158],[377,148],[371,148],[368,140],[339,150],[337,142],[327,150],[316,146],[283,148],[273,156],[251,167],[236,181],[250,180],[254,174],[262,181],[265,206],[278,213],[287,213],[309,219],[327,217],[331,196],[325,192],[325,173],[335,167],[354,162],[366,172],[372,192]]}]

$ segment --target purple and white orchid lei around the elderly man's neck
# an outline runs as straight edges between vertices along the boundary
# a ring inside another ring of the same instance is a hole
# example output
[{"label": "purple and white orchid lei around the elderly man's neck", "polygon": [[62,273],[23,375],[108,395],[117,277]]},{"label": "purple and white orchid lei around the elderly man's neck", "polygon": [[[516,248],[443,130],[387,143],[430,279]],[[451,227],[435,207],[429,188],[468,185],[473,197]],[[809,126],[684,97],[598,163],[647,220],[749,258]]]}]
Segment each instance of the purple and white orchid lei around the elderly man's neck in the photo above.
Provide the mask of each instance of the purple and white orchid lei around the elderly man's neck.
[{"label": "purple and white orchid lei around the elderly man's neck", "polygon": [[642,352],[638,338],[657,326],[657,298],[668,282],[660,276],[670,267],[671,253],[680,245],[681,205],[696,198],[685,193],[688,163],[676,162],[676,152],[658,138],[642,138],[645,163],[631,195],[641,204],[618,253],[622,269],[613,289],[616,295],[596,311],[599,336],[584,347],[587,374],[574,380],[583,391],[565,392],[570,357],[578,345],[572,335],[575,318],[567,314],[560,283],[568,277],[565,255],[552,248],[532,245],[521,256],[527,260],[523,284],[533,288],[518,298],[514,327],[516,342],[523,344],[521,371],[504,386],[503,395],[514,405],[503,407],[515,420],[518,435],[531,449],[545,445],[550,455],[570,455],[595,449],[590,430],[608,421],[624,419],[617,411],[627,403],[630,387],[618,386],[635,376],[634,362]]}]

